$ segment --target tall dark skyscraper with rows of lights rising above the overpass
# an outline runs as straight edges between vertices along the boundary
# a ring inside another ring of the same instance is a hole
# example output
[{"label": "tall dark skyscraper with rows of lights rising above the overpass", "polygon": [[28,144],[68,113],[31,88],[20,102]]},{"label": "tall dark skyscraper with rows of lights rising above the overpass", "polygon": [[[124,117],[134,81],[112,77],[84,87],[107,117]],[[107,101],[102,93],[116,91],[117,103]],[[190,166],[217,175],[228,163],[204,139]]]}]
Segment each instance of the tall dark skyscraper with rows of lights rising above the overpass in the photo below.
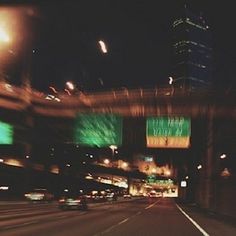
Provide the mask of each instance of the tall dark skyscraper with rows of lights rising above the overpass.
[{"label": "tall dark skyscraper with rows of lights rising above the overpass", "polygon": [[212,77],[212,48],[209,27],[202,15],[186,6],[172,24],[173,85],[193,90],[207,88]]}]

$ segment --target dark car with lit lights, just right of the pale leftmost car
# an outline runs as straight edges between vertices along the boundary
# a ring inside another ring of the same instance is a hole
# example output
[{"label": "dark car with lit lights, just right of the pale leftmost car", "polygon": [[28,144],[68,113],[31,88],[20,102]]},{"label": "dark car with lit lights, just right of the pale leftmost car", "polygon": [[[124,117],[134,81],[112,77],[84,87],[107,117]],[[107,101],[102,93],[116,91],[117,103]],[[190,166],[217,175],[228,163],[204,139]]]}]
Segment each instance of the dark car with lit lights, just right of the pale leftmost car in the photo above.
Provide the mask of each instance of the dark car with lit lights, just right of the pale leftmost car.
[{"label": "dark car with lit lights, just right of the pale leftmost car", "polygon": [[62,210],[77,209],[87,210],[87,200],[85,196],[63,196],[58,201],[58,207]]}]

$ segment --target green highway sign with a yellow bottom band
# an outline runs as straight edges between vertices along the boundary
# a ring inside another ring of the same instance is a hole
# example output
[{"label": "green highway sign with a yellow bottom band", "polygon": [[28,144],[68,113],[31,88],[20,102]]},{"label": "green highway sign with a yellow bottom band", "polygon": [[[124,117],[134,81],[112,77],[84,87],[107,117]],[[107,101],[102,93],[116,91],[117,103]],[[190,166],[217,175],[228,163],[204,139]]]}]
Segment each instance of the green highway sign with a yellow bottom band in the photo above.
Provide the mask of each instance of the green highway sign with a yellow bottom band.
[{"label": "green highway sign with a yellow bottom band", "polygon": [[147,147],[188,148],[191,121],[186,117],[148,117],[146,122]]}]

